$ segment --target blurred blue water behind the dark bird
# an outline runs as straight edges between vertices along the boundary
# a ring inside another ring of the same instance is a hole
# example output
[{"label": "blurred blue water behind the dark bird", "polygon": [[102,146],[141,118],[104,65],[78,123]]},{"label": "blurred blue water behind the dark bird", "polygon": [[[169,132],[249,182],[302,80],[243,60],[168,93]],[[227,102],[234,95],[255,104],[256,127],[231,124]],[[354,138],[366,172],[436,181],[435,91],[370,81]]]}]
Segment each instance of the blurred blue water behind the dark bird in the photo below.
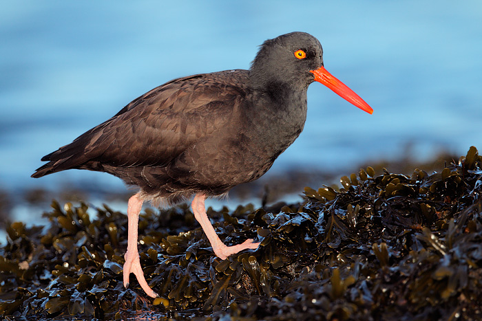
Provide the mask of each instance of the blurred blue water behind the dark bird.
[{"label": "blurred blue water behind the dark bird", "polygon": [[[272,168],[352,168],[370,159],[482,148],[482,2],[2,1],[0,187],[112,184],[70,170],[31,179],[40,158],[179,76],[248,68],[292,31],[368,115],[314,83],[302,135]],[[350,167],[351,166],[351,167]]]}]

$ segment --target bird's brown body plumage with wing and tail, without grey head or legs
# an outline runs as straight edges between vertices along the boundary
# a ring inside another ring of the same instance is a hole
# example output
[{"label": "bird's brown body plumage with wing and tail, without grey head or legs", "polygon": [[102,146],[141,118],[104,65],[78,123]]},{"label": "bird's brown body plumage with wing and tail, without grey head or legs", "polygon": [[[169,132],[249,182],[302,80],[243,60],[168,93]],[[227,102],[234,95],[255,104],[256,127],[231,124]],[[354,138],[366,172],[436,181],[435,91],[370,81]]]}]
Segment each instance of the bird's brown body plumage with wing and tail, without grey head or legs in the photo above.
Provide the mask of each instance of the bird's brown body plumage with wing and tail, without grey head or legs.
[{"label": "bird's brown body plumage with wing and tail, without grey head or legs", "polygon": [[266,173],[306,118],[304,96],[301,117],[284,111],[275,126],[273,111],[252,103],[255,96],[266,100],[265,93],[253,93],[248,84],[246,70],[167,82],[43,157],[49,163],[32,177],[70,168],[103,171],[169,203],[201,191],[227,192]]}]

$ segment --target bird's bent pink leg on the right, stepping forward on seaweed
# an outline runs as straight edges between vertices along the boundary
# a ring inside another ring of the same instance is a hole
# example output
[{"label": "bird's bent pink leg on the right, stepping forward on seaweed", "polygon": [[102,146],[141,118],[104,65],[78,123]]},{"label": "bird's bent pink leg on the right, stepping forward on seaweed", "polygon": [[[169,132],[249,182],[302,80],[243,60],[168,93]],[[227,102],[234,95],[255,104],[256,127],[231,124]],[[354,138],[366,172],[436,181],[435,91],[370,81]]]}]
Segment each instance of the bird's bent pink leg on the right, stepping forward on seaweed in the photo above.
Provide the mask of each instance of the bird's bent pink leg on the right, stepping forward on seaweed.
[{"label": "bird's bent pink leg on the right, stepping forward on seaweed", "polygon": [[224,260],[231,254],[238,253],[242,250],[255,250],[258,248],[258,245],[260,245],[260,243],[253,243],[253,239],[248,239],[244,241],[244,243],[238,245],[224,245],[224,243],[222,243],[222,241],[219,239],[218,234],[216,234],[213,225],[211,225],[211,222],[209,221],[209,218],[207,217],[205,199],[205,195],[197,194],[191,203],[191,207],[193,209],[194,217],[196,217],[196,219],[200,223],[202,230],[205,231],[207,239],[209,239],[209,243],[211,243],[211,246],[213,247],[214,253],[219,258]]}]

